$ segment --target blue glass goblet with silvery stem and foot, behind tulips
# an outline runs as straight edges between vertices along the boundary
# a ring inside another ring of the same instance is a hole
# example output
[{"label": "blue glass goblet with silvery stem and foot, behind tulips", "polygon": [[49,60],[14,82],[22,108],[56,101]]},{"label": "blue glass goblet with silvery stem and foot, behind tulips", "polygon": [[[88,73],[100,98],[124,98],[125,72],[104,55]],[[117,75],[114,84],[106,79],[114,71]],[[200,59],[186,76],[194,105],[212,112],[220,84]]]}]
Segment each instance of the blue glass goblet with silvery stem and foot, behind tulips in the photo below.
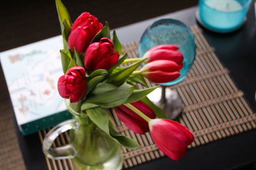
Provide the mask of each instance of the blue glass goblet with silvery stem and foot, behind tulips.
[{"label": "blue glass goblet with silvery stem and foot, behind tulips", "polygon": [[195,60],[195,38],[190,29],[179,20],[164,18],[147,27],[141,36],[138,47],[140,57],[157,45],[179,46],[179,52],[184,56],[179,78],[167,83],[159,83],[161,87],[148,95],[151,101],[164,110],[168,118],[175,119],[182,110],[181,99],[177,92],[166,88],[166,86],[175,85],[186,78],[186,74]]}]

